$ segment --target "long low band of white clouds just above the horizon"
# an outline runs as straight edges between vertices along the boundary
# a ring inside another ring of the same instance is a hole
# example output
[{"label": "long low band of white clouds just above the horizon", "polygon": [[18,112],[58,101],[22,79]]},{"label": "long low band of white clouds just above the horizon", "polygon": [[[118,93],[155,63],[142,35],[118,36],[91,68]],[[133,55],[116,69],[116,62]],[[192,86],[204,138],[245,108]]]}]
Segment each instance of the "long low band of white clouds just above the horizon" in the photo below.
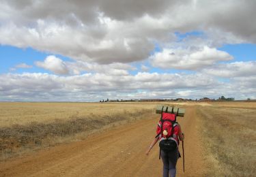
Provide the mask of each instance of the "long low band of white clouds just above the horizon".
[{"label": "long low band of white clouds just above the horizon", "polygon": [[[255,76],[218,82],[205,74],[150,74],[111,76],[83,74],[56,76],[52,74],[2,74],[0,97],[8,101],[98,101],[109,99],[146,98],[253,98]],[[242,93],[242,95],[240,95]],[[216,96],[217,95],[217,96]],[[229,96],[230,95],[230,96]],[[10,99],[10,97],[12,99]]]}]

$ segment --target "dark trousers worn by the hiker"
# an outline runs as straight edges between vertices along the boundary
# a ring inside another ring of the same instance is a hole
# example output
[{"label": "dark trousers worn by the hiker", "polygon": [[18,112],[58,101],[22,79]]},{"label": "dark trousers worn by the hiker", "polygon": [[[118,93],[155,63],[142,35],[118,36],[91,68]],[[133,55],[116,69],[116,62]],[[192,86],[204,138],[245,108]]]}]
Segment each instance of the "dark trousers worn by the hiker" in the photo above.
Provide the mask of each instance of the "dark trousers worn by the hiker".
[{"label": "dark trousers worn by the hiker", "polygon": [[163,163],[163,177],[175,177],[178,157],[179,151],[177,149],[169,152],[161,150],[161,158]]}]

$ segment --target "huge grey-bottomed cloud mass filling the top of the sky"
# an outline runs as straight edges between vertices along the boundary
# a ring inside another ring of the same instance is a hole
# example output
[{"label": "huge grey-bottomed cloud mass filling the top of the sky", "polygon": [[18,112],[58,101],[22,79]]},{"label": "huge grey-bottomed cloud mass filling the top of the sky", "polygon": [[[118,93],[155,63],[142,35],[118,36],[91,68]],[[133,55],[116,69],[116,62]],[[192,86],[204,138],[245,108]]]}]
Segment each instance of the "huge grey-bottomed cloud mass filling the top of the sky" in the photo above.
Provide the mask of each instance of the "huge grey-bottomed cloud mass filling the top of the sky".
[{"label": "huge grey-bottomed cloud mass filling the top of the sky", "polygon": [[255,43],[255,7],[253,0],[3,1],[0,43],[79,61],[130,63],[147,59],[156,43],[173,42],[176,31],[203,31],[214,38],[210,48]]}]

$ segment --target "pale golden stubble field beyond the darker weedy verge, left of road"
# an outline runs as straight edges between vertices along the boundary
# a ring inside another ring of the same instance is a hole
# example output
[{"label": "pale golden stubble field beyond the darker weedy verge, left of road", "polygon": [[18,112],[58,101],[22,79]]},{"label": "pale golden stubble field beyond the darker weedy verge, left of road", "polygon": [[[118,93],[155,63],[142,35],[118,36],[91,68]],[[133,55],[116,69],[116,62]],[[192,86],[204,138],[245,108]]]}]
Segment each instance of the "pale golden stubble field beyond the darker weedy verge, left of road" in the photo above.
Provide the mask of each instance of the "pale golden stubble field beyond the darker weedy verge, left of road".
[{"label": "pale golden stubble field beyond the darker weedy verge, left of road", "polygon": [[109,115],[115,112],[137,112],[153,109],[156,103],[0,103],[0,127],[51,123],[55,119],[70,120],[91,114]]}]

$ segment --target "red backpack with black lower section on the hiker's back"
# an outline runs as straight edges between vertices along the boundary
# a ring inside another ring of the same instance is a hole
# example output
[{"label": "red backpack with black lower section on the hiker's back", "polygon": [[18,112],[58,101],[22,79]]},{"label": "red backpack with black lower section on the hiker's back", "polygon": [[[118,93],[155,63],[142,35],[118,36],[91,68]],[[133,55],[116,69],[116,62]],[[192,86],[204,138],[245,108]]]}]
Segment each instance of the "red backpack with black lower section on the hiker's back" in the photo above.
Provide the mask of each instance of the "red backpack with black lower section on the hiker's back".
[{"label": "red backpack with black lower section on the hiker's back", "polygon": [[[173,113],[173,108],[171,113],[168,113],[167,109],[163,112],[162,108],[161,118],[156,129],[156,133],[158,134],[156,137],[160,136],[160,150],[171,151],[177,149],[177,146],[179,145],[179,129],[176,123],[177,114]],[[177,110],[177,113],[178,111],[179,110]]]}]

